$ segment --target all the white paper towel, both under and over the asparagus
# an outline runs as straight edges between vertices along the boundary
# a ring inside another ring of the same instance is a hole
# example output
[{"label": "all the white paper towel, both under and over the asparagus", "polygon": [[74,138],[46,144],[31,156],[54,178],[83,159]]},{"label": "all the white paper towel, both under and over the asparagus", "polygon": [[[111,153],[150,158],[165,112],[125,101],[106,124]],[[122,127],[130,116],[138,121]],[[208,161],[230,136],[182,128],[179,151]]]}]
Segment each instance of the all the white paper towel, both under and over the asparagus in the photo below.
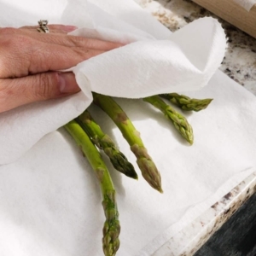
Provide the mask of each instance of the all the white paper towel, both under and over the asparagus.
[{"label": "all the white paper towel, both under and over the asparagus", "polygon": [[[110,167],[122,226],[117,255],[154,253],[256,169],[256,135],[251,128],[256,125],[255,97],[220,72],[202,90],[191,91],[207,84],[224,55],[224,33],[215,20],[198,20],[171,34],[129,0],[93,1],[113,15],[113,20],[92,4],[83,1],[76,9],[76,3],[1,1],[5,9],[0,11],[1,26],[32,25],[38,17],[71,25],[87,22],[85,25],[96,26],[96,31],[105,36],[113,38],[119,32],[121,38],[136,41],[75,67],[83,90],[77,96],[0,115],[1,163],[9,163],[0,166],[3,256],[102,255],[104,217],[96,177],[71,137],[62,129],[54,131],[90,104],[90,89],[129,97],[190,90],[189,96],[214,99],[207,110],[185,113],[195,131],[192,147],[183,143],[172,125],[145,102],[116,99],[141,132],[161,172],[164,189],[161,195],[140,174],[134,181]],[[14,20],[9,20],[9,14]],[[45,14],[48,16],[43,17]],[[110,28],[99,25],[101,18]],[[122,26],[131,33],[125,34]],[[90,111],[136,166],[115,125],[99,109],[91,106]]]}]

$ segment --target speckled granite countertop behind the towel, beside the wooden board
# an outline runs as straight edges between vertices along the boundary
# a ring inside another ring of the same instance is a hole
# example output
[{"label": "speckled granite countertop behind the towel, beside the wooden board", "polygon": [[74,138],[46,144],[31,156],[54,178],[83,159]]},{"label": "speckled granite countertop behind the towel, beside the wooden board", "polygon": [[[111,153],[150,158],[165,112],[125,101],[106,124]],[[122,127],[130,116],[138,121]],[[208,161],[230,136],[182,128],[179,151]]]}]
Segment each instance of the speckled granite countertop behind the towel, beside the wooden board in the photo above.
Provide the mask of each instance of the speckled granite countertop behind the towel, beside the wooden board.
[{"label": "speckled granite countertop behind the towel, beside the wooden board", "polygon": [[[218,18],[189,0],[137,0],[137,2],[172,32],[201,17]],[[222,23],[229,42],[220,69],[256,96],[256,39],[230,23],[218,20]]]}]

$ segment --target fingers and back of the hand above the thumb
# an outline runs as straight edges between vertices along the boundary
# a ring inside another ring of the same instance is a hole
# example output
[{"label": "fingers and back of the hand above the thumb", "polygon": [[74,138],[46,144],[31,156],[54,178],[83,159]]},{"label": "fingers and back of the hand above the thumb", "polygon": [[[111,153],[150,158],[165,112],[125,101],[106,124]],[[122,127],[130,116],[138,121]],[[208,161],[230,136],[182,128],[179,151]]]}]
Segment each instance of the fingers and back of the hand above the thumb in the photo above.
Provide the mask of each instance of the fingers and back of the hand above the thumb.
[{"label": "fingers and back of the hand above the thumb", "polygon": [[121,44],[97,39],[0,29],[0,78],[67,69]]}]

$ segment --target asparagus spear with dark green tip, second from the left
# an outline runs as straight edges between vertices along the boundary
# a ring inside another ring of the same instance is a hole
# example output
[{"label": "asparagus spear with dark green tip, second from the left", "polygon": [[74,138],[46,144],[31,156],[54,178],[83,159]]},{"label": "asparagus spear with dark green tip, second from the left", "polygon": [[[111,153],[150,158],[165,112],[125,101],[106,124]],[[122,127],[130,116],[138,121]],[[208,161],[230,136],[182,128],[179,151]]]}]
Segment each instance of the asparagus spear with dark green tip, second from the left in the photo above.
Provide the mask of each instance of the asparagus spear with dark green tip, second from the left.
[{"label": "asparagus spear with dark green tip, second from the left", "polygon": [[126,159],[125,155],[115,146],[108,134],[105,134],[100,125],[96,124],[96,121],[92,119],[88,110],[85,110],[76,120],[91,137],[92,142],[95,143],[98,148],[103,149],[105,154],[108,155],[109,160],[116,170],[124,173],[128,177],[137,179],[137,173],[134,167]]}]

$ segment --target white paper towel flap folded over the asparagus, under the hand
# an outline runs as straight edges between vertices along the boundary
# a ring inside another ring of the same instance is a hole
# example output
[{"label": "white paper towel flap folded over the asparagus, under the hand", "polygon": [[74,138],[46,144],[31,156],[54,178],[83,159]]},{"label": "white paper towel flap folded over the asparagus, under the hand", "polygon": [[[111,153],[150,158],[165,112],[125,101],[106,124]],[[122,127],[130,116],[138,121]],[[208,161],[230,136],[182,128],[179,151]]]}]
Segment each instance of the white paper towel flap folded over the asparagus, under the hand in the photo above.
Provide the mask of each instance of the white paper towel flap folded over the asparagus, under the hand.
[{"label": "white paper towel flap folded over the asparagus, under the hand", "polygon": [[[31,2],[26,1],[28,8],[31,8]],[[24,3],[17,3],[15,8],[19,4],[20,8],[24,7]],[[52,2],[49,4],[52,5]],[[73,67],[82,90],[77,95],[33,103],[1,114],[0,164],[17,160],[45,134],[76,118],[92,102],[91,91],[108,96],[140,98],[173,91],[198,90],[207,84],[224,58],[224,31],[212,18],[195,20],[173,34],[159,32],[160,37],[156,37],[157,32],[152,35],[144,32],[92,3],[69,1],[65,8],[63,3],[59,4],[58,9],[63,13],[59,14],[59,20],[54,20],[79,26],[80,29],[73,34],[126,45]],[[45,3],[42,6],[38,3],[38,6],[41,15],[47,13]],[[59,12],[57,10],[56,17]],[[5,17],[6,9],[2,9],[0,14],[3,15],[1,26],[10,25]],[[20,19],[20,26],[24,25],[23,15],[22,20],[20,15],[15,15],[13,19],[14,24],[18,24]],[[28,24],[31,20],[27,16]]]}]

